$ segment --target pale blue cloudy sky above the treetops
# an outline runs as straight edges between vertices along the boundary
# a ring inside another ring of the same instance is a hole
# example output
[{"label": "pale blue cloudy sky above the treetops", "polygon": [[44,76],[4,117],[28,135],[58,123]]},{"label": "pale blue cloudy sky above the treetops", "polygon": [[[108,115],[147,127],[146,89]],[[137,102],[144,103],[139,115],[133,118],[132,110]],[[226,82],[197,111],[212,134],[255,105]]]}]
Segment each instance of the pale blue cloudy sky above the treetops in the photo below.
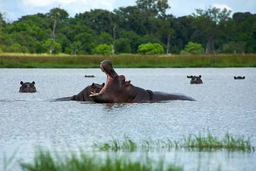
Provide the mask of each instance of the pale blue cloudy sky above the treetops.
[{"label": "pale blue cloudy sky above the treetops", "polygon": [[[113,11],[119,7],[133,6],[136,0],[0,0],[0,11],[6,12],[9,21],[15,21],[21,16],[47,13],[50,9],[61,5],[70,17],[76,13],[84,13],[90,9],[107,9]],[[232,12],[256,13],[256,0],[168,0],[171,9],[168,14],[176,17],[189,15],[195,9],[205,9],[208,6],[227,8]]]}]

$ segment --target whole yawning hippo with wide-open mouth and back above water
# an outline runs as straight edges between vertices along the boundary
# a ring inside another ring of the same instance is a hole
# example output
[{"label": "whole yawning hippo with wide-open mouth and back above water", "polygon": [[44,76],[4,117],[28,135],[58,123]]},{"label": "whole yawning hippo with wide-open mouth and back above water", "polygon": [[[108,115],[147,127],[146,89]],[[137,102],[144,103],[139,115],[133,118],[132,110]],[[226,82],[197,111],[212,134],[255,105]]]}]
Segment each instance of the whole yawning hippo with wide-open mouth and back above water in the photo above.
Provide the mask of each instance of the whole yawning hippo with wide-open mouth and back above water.
[{"label": "whole yawning hippo with wide-open mouth and back above water", "polygon": [[99,93],[92,93],[89,97],[96,103],[135,103],[157,102],[166,100],[189,100],[195,99],[180,93],[166,93],[160,91],[145,90],[125,81],[124,75],[118,75],[109,60],[100,63],[100,69],[107,75],[107,81]]}]

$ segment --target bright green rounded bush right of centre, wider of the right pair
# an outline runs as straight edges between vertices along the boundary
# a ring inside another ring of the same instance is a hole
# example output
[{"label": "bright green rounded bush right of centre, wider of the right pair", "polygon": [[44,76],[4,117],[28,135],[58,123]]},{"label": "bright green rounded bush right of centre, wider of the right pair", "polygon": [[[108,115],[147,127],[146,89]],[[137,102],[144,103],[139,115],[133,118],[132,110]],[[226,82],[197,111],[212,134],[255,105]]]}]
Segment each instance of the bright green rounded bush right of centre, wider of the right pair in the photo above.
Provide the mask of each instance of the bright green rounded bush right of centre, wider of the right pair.
[{"label": "bright green rounded bush right of centre, wider of the right pair", "polygon": [[161,54],[163,53],[163,46],[161,46],[158,43],[147,43],[147,44],[141,44],[138,47],[138,53],[139,54]]}]

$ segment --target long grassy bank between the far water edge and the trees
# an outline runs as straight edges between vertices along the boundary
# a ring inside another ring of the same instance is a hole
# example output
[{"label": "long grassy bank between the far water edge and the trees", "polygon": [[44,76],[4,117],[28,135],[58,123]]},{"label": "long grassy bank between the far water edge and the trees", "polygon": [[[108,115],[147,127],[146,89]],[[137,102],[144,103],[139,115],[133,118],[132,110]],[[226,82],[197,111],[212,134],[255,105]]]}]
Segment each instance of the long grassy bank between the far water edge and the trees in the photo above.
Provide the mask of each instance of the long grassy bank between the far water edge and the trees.
[{"label": "long grassy bank between the far water edge and the trees", "polygon": [[231,55],[47,55],[1,53],[0,68],[99,68],[105,59],[114,68],[256,67],[256,54]]}]

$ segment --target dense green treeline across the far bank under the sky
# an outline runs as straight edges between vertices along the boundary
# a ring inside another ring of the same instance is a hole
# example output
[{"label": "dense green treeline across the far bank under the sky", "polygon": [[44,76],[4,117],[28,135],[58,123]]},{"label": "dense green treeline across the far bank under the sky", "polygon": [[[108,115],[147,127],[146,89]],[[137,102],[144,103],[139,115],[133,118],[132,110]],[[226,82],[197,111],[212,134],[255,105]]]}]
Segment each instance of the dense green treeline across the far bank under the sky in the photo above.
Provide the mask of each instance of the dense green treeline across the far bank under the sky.
[{"label": "dense green treeline across the far bank under the sky", "polygon": [[[6,13],[1,12],[0,52],[136,54],[155,46],[172,54],[187,49],[206,54],[256,53],[256,14],[236,12],[230,17],[231,11],[209,6],[175,17],[166,14],[170,8],[167,0],[137,0],[136,6],[113,12],[94,9],[69,17],[57,7],[12,23],[6,23]],[[147,43],[151,44],[140,46]]]}]

